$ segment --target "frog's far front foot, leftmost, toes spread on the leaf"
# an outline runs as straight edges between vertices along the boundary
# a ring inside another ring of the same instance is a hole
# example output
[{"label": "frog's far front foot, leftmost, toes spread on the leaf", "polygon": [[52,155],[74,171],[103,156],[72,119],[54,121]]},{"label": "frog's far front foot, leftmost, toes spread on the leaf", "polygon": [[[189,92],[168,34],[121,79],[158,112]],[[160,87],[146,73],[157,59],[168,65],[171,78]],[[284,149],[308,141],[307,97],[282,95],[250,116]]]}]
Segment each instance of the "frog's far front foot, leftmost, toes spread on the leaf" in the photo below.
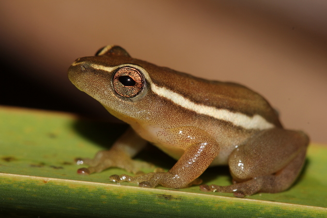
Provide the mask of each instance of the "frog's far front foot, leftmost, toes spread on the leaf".
[{"label": "frog's far front foot, leftmost, toes spread on the leaf", "polygon": [[98,152],[93,159],[76,158],[77,164],[87,164],[90,167],[78,169],[78,174],[89,175],[93,172],[101,172],[110,167],[124,169],[134,174],[142,173],[142,168],[153,168],[152,164],[131,159],[127,154],[119,150]]}]

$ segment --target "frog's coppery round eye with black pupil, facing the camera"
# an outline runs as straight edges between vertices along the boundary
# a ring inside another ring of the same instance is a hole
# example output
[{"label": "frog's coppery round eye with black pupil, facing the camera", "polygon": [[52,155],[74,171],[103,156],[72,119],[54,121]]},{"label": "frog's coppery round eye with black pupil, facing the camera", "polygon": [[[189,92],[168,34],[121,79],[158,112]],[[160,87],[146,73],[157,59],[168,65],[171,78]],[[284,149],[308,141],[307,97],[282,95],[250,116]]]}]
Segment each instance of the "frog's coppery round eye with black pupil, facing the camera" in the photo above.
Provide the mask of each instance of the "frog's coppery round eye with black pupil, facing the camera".
[{"label": "frog's coppery round eye with black pupil, facing the camera", "polygon": [[132,67],[123,67],[116,71],[112,79],[113,88],[119,95],[135,97],[143,88],[140,72]]}]

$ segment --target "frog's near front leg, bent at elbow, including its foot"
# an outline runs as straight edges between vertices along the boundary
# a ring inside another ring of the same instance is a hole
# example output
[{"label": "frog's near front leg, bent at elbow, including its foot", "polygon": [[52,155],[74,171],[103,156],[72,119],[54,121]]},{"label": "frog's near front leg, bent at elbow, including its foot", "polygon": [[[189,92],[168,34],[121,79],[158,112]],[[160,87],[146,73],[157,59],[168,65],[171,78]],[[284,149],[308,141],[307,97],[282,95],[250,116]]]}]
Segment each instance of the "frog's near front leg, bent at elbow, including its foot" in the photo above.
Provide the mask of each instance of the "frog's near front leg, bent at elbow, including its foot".
[{"label": "frog's near front leg, bent at elbow, including its foot", "polygon": [[158,133],[174,144],[185,147],[184,154],[168,172],[151,172],[140,176],[112,175],[111,181],[128,181],[139,183],[140,187],[156,187],[162,185],[171,188],[188,187],[191,184],[199,185],[196,180],[205,169],[211,164],[219,153],[219,146],[216,140],[210,137],[205,131],[184,126],[165,130]]}]

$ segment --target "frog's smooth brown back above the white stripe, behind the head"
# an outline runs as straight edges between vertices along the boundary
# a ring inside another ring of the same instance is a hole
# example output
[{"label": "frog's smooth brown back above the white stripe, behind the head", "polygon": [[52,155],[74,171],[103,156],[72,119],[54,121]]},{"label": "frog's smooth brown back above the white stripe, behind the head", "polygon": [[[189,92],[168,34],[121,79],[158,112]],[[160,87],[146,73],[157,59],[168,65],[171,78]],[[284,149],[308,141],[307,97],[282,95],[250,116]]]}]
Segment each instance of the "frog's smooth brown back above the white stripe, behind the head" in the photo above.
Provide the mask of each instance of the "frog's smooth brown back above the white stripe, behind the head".
[{"label": "frog's smooth brown back above the white stripe, behind the head", "polygon": [[278,114],[265,98],[243,85],[210,81],[166,67],[156,69],[157,67],[149,64],[146,70],[151,75],[152,82],[158,87],[169,89],[197,105],[226,109],[249,117],[260,115],[267,122],[281,127]]}]

